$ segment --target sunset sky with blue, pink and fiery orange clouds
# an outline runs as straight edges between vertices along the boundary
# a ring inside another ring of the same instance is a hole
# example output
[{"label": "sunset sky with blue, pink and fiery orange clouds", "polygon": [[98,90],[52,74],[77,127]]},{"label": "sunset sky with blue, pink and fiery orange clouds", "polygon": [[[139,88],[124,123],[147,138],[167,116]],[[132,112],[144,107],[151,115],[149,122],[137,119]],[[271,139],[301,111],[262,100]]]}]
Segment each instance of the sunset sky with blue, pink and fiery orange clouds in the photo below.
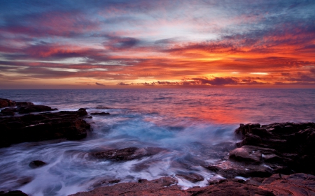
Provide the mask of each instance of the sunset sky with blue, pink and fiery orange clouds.
[{"label": "sunset sky with blue, pink and fiery orange clouds", "polygon": [[315,88],[315,1],[0,1],[0,89]]}]

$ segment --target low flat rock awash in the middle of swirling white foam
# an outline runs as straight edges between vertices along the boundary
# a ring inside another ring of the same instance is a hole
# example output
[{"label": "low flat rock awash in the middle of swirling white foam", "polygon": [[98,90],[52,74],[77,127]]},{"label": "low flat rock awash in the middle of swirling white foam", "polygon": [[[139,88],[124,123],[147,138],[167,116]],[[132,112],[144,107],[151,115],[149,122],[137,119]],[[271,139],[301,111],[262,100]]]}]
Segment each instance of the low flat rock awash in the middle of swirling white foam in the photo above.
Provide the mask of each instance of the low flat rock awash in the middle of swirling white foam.
[{"label": "low flat rock awash in the middle of swirling white foam", "polygon": [[134,160],[143,158],[146,156],[152,156],[164,149],[147,147],[139,149],[136,147],[130,147],[125,149],[114,149],[109,151],[92,153],[92,156],[96,158],[106,158],[110,160]]}]

